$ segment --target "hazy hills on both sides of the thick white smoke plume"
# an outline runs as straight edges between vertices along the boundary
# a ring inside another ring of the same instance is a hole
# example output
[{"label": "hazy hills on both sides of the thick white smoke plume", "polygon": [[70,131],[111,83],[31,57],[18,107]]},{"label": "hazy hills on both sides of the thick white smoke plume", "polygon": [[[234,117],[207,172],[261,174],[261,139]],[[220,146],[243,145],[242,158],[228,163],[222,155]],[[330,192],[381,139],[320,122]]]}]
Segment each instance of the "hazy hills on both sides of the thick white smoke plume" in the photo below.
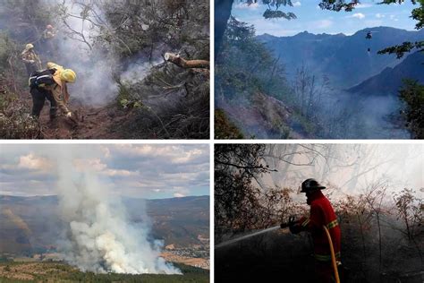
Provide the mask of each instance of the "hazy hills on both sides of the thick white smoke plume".
[{"label": "hazy hills on both sides of the thick white smoke plume", "polygon": [[[147,213],[151,236],[175,247],[208,244],[209,196],[143,200],[124,197],[129,218],[139,222]],[[58,198],[0,195],[0,253],[33,253],[55,246],[65,223]]]}]

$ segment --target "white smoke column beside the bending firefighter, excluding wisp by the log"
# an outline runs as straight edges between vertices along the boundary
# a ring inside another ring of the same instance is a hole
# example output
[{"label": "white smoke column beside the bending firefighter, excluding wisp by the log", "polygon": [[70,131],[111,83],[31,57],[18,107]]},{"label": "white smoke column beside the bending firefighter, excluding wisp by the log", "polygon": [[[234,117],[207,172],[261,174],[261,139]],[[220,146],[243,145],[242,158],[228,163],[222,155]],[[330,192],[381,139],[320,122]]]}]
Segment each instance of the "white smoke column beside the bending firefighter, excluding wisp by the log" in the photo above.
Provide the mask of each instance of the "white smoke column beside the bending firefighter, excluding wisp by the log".
[{"label": "white smoke column beside the bending firefighter, excluding wisp by the log", "polygon": [[[63,4],[67,13],[71,15],[80,16],[84,12],[83,6],[72,1],[58,1],[57,4]],[[96,11],[99,18],[103,17],[97,5],[89,6]],[[89,20],[90,15],[89,13]],[[98,27],[89,21],[72,16],[68,16],[65,22],[66,24],[59,22],[55,39],[58,50],[53,61],[77,73],[77,81],[69,84],[72,98],[81,99],[93,106],[106,105],[114,99],[118,91],[114,81],[117,59],[110,52],[111,47],[95,44],[99,34]],[[83,38],[72,30],[80,32]],[[83,42],[84,40],[87,42]]]}]

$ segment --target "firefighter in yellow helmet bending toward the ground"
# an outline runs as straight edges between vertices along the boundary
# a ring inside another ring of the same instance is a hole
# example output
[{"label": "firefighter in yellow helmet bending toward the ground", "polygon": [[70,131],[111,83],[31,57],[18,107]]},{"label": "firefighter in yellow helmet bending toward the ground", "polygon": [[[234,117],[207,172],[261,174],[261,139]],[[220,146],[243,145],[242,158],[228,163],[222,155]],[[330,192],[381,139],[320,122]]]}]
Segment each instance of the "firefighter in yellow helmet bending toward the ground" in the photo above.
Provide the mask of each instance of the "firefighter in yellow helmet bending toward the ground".
[{"label": "firefighter in yellow helmet bending toward the ground", "polygon": [[57,107],[67,118],[73,119],[72,112],[66,106],[69,101],[68,82],[74,82],[77,76],[71,69],[48,62],[47,70],[30,77],[30,93],[32,96],[32,116],[39,117],[45,100],[50,101],[50,119],[56,116]]}]

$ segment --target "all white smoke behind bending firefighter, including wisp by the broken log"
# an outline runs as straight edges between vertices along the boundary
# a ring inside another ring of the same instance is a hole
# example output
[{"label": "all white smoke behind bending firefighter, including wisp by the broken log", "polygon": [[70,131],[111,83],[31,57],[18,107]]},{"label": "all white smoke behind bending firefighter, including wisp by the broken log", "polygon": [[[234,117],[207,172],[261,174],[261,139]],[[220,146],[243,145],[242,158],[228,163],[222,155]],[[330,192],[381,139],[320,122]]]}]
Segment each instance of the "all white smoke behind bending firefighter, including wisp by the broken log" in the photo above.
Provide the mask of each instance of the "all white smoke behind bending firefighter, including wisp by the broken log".
[{"label": "all white smoke behind bending firefighter, including wisp by the broken log", "polygon": [[[45,0],[45,3],[52,2]],[[128,83],[141,81],[153,65],[163,61],[161,48],[155,48],[151,57],[140,52],[123,59],[116,54],[115,45],[129,47],[118,39],[112,24],[106,19],[103,10],[112,3],[72,0],[54,0],[53,3],[64,13],[55,17],[56,54],[43,60],[45,63],[53,61],[77,74],[77,80],[68,84],[71,99],[94,107],[105,106],[118,95],[118,79]],[[113,4],[118,6],[123,3]],[[105,40],[105,37],[110,39]],[[129,64],[125,60],[129,60]]]}]

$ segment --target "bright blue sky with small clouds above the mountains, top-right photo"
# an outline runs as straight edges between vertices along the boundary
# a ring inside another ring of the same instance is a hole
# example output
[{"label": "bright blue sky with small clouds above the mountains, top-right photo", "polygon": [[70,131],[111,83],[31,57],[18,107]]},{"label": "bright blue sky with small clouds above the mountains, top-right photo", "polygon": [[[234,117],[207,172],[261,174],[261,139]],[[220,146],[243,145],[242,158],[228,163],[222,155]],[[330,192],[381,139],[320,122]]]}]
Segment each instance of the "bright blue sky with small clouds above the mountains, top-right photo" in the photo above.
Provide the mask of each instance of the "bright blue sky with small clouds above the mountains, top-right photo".
[{"label": "bright blue sky with small clouds above the mountains, top-right photo", "polygon": [[321,10],[318,0],[293,0],[293,7],[281,7],[284,12],[295,13],[297,19],[266,20],[262,16],[267,9],[264,4],[247,5],[239,1],[233,4],[232,14],[239,21],[255,26],[257,34],[268,33],[276,36],[293,36],[307,30],[311,33],[340,33],[351,35],[365,28],[388,26],[403,30],[414,30],[415,21],[411,10],[417,5],[407,1],[405,4],[377,4],[377,1],[361,1],[352,12],[331,12]]}]

